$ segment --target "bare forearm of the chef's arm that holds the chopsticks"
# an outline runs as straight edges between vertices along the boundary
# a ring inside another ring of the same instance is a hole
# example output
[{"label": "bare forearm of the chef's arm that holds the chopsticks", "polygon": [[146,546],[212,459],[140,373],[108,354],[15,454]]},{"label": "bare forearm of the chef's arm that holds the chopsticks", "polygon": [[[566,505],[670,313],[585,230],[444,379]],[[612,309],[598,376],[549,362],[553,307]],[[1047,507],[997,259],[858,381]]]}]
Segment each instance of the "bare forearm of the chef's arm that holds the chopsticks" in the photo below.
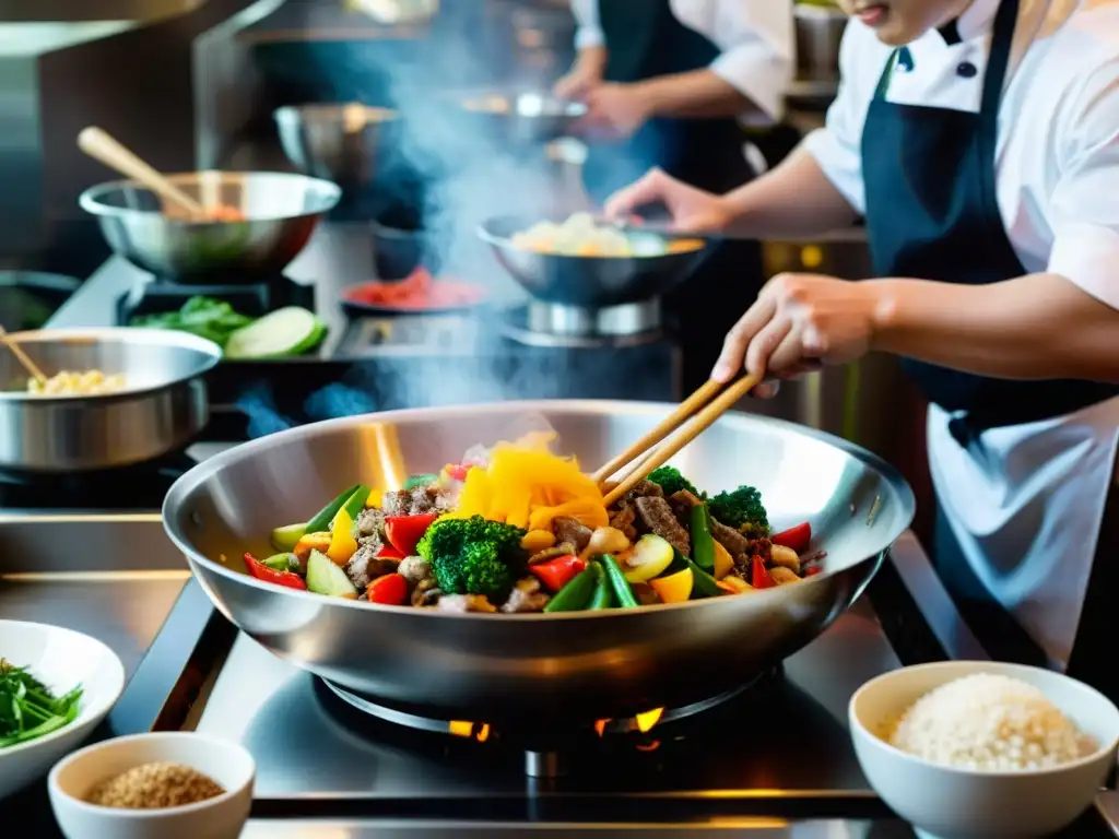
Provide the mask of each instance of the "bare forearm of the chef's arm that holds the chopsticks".
[{"label": "bare forearm of the chef's arm that holds the chopsticks", "polygon": [[1057,274],[873,280],[874,348],[997,378],[1119,383],[1119,311]]}]

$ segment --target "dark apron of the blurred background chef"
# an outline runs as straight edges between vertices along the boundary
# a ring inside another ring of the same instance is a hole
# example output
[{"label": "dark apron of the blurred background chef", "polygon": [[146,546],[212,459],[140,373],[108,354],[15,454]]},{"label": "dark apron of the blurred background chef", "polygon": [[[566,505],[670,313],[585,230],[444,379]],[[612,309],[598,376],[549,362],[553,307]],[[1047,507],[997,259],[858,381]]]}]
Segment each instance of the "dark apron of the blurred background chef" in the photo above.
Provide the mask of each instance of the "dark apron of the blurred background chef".
[{"label": "dark apron of the blurred background chef", "polygon": [[[599,21],[606,43],[606,82],[687,73],[708,66],[720,54],[708,38],[677,20],[669,0],[599,0]],[[593,144],[583,181],[600,205],[652,167],[700,189],[727,192],[754,176],[743,155],[745,140],[733,119],[651,120],[628,141]],[[761,284],[761,245],[723,242],[667,296],[664,310],[684,348],[686,393],[707,380],[724,336],[754,302]]]}]

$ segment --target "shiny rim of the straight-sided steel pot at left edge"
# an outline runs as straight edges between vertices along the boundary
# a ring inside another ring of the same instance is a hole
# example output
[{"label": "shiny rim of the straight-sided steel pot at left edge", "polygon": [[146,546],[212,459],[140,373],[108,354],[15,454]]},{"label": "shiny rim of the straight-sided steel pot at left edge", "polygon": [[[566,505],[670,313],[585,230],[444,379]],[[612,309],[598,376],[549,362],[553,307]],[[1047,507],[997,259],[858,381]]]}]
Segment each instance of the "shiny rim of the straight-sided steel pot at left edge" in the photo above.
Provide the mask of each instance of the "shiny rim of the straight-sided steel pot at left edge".
[{"label": "shiny rim of the straight-sided steel pot at left edge", "polygon": [[161,381],[147,387],[134,387],[123,390],[114,390],[111,394],[91,394],[88,396],[31,396],[19,390],[0,390],[0,404],[17,403],[26,405],[57,405],[59,403],[110,403],[129,399],[169,387],[190,381],[205,376],[222,361],[222,348],[213,341],[192,334],[191,332],[180,332],[173,329],[152,329],[145,327],[105,327],[103,329],[75,327],[73,329],[37,329],[26,332],[9,332],[8,338],[17,343],[47,343],[66,339],[94,339],[106,341],[106,339],[121,339],[122,343],[158,345],[185,350],[195,350],[203,353],[206,360],[198,370],[189,376],[180,376],[175,379]]}]

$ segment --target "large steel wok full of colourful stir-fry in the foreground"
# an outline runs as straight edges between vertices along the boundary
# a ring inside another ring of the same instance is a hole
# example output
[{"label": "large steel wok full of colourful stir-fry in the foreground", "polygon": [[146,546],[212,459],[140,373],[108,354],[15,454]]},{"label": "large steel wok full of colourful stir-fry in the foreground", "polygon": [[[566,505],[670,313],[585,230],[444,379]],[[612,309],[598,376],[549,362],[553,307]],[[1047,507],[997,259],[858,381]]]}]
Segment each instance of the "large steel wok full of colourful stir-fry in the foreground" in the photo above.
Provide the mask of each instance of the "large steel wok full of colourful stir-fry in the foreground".
[{"label": "large steel wok full of colourful stir-fry in the foreground", "polygon": [[[505,403],[302,426],[191,470],[168,493],[164,527],[242,630],[387,707],[517,723],[688,705],[741,686],[841,614],[911,521],[913,497],[893,469],[850,444],[731,414],[674,461],[709,497],[666,470],[652,482],[659,492],[642,486],[604,507],[577,464],[605,462],[669,413]],[[518,440],[511,426],[529,415],[577,461],[540,451],[539,440],[462,456],[478,440]],[[440,474],[405,489],[423,471]],[[811,521],[807,550],[807,528],[778,539],[794,546],[800,573],[787,571],[799,582],[779,569],[792,556],[767,541],[761,499],[771,530]],[[290,521],[307,524],[274,531]],[[822,563],[815,544],[828,550]],[[759,565],[768,576],[754,585]],[[492,594],[482,601],[479,591]],[[658,602],[633,607],[627,592]]]}]

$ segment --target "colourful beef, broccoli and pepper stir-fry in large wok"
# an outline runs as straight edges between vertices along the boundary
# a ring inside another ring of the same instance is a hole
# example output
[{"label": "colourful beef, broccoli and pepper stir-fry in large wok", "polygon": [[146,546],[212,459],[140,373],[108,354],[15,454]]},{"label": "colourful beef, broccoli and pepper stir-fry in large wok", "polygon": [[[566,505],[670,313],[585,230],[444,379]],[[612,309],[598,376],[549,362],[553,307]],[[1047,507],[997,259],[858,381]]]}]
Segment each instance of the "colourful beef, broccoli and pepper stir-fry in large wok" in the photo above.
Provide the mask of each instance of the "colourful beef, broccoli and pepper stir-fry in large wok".
[{"label": "colourful beef, broccoli and pepper stir-fry in large wok", "polygon": [[761,496],[707,498],[661,466],[606,508],[553,435],[468,454],[378,493],[346,488],[307,524],[245,555],[264,582],[392,606],[573,612],[739,595],[820,571],[808,522],[771,535]]}]

